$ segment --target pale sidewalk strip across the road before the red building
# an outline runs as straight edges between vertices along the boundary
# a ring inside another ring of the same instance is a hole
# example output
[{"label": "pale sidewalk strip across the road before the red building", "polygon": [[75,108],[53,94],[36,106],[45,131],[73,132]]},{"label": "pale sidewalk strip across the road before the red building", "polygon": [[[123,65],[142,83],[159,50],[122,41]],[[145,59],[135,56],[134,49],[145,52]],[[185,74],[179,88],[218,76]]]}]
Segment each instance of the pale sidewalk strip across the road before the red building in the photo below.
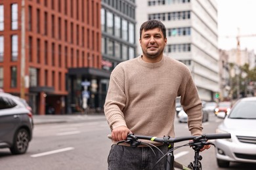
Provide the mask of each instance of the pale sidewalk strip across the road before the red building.
[{"label": "pale sidewalk strip across the road before the red building", "polygon": [[106,120],[104,114],[57,114],[57,115],[33,115],[33,123],[36,124],[56,124],[72,122],[93,122]]}]

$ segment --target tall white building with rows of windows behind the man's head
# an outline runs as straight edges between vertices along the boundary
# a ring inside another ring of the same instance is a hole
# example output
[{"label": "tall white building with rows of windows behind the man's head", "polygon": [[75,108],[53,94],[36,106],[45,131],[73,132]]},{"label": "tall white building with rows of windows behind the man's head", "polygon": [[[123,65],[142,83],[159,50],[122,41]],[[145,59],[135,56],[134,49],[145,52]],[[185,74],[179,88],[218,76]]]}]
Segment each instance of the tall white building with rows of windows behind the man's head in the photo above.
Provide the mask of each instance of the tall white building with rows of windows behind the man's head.
[{"label": "tall white building with rows of windows behind the man's head", "polygon": [[[219,92],[217,3],[215,0],[136,1],[137,43],[140,25],[161,20],[167,29],[165,55],[185,63],[192,72],[200,98],[213,101]],[[140,48],[138,55],[141,53]]]}]

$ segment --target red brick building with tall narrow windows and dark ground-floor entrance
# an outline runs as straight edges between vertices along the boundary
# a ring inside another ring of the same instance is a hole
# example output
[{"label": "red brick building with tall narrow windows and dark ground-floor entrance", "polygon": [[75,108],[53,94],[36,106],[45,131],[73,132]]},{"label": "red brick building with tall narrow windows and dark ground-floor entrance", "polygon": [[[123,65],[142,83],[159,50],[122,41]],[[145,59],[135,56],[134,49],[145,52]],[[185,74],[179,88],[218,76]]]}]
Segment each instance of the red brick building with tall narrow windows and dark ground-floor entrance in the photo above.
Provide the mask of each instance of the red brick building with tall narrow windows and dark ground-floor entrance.
[{"label": "red brick building with tall narrow windows and dark ground-floor entrance", "polygon": [[35,114],[102,108],[110,74],[101,70],[100,8],[100,0],[0,0],[0,88]]}]

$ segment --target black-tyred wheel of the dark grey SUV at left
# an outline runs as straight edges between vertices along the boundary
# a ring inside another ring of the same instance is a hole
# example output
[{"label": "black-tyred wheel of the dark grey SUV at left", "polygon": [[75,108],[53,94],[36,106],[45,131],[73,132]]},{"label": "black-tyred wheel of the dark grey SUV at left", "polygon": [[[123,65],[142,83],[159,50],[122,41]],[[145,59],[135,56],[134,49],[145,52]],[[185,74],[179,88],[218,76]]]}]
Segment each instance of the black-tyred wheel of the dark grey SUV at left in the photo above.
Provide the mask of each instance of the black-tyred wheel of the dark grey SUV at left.
[{"label": "black-tyred wheel of the dark grey SUV at left", "polygon": [[24,154],[28,149],[30,135],[26,129],[18,129],[14,136],[14,142],[10,148],[12,154]]}]

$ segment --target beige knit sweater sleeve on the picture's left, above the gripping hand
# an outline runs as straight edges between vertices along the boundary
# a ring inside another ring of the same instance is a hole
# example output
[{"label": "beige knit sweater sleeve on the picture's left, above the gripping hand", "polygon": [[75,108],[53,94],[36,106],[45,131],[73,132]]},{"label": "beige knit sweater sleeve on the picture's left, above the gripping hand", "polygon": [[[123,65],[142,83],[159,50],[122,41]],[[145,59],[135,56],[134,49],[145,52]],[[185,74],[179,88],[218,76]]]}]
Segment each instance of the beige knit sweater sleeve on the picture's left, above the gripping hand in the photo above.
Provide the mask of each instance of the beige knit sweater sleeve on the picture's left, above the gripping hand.
[{"label": "beige knit sweater sleeve on the picture's left, above the gripping hand", "polygon": [[110,75],[108,93],[104,104],[104,113],[111,130],[119,126],[126,126],[122,112],[125,101],[124,71],[117,65]]}]

